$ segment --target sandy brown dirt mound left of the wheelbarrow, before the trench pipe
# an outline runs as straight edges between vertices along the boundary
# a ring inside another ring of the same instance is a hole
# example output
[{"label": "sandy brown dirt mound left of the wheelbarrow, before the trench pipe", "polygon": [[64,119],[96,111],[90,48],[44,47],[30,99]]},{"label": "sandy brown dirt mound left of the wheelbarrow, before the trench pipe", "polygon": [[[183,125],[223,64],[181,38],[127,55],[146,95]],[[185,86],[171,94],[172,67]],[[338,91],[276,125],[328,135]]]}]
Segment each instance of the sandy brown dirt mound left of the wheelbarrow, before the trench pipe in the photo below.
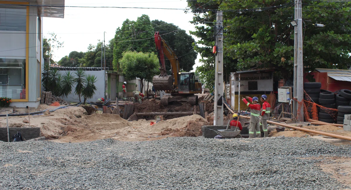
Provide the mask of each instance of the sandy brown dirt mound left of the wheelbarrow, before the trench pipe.
[{"label": "sandy brown dirt mound left of the wheelbarrow, before the trench pipe", "polygon": [[167,127],[166,124],[170,124],[170,123],[173,124],[173,125],[168,125],[169,128],[164,129],[161,132],[161,135],[170,135],[170,136],[177,136],[177,137],[201,136],[202,135],[201,126],[208,125],[208,122],[205,120],[205,118],[199,115],[174,118],[167,121],[160,121],[157,124],[159,123],[163,127]]}]

